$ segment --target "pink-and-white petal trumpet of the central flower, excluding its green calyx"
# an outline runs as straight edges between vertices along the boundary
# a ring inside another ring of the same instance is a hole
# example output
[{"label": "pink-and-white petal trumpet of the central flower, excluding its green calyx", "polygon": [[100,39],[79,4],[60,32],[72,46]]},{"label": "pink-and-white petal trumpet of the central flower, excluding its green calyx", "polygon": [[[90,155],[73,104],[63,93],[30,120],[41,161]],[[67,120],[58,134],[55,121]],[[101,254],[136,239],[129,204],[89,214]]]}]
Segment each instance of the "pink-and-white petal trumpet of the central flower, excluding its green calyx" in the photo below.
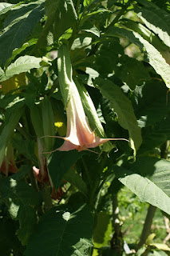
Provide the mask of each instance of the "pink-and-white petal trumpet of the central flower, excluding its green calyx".
[{"label": "pink-and-white petal trumpet of the central flower, excluding its green calyx", "polygon": [[[67,114],[67,133],[66,137],[55,136],[65,140],[63,145],[56,150],[89,150],[110,140],[125,140],[125,138],[99,138],[95,135],[89,127],[89,123],[85,117],[85,110],[83,109],[81,97],[78,93],[77,86],[72,81],[72,94],[69,98],[68,106],[66,107]],[[52,136],[49,136],[52,137]],[[56,151],[53,150],[53,151]],[[53,152],[52,151],[52,152]],[[89,150],[92,151],[92,150]],[[94,152],[94,151],[93,151]],[[96,153],[96,152],[94,152]]]}]

